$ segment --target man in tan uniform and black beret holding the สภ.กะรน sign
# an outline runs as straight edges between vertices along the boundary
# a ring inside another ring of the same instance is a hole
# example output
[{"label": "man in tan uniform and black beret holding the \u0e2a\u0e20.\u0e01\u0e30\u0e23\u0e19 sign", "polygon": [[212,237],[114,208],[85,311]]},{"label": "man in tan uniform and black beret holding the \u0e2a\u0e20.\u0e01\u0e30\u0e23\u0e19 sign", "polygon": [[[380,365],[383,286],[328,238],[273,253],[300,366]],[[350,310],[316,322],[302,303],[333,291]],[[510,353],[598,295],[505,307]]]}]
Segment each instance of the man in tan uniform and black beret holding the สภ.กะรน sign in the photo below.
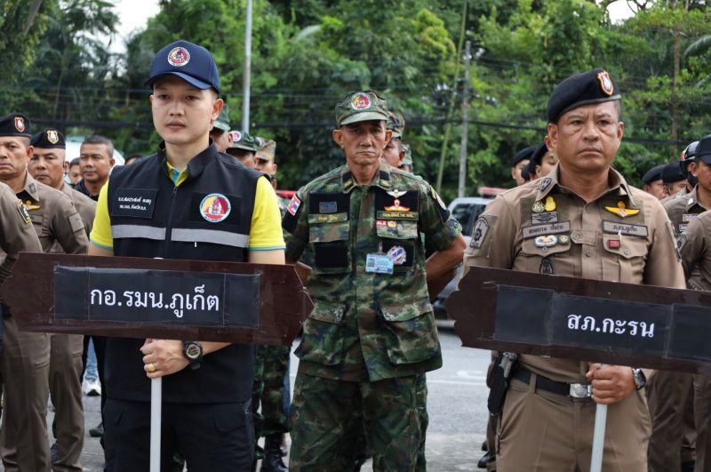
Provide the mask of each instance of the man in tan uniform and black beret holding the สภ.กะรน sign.
[{"label": "man in tan uniform and black beret holding the \u0e2a\u0e20.\u0e01\u0e30\u0e23\u0e19 sign", "polygon": [[[603,69],[556,86],[547,119],[560,162],[542,180],[489,204],[475,223],[465,273],[481,266],[684,286],[661,204],[611,169],[624,131],[619,100]],[[571,388],[590,383],[589,393]],[[643,372],[630,367],[519,356],[499,426],[497,469],[586,470],[599,403],[609,404],[603,470],[646,472],[651,424],[639,391],[644,383]]]}]

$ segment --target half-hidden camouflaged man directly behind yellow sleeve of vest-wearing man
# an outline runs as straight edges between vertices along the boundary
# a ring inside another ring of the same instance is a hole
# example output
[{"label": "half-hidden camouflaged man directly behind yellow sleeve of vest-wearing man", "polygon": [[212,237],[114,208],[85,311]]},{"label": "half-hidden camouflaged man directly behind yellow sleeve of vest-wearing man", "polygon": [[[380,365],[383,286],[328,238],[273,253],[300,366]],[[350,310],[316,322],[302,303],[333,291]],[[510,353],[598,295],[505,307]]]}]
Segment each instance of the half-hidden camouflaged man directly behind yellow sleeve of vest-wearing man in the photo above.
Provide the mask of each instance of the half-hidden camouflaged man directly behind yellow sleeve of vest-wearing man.
[{"label": "half-hidden camouflaged man directly behind yellow sleeve of vest-wearing man", "polygon": [[[274,162],[276,142],[263,140],[254,157],[255,169],[266,173],[276,190],[276,168]],[[286,212],[284,198],[277,196],[279,210]],[[289,354],[291,346],[259,346],[254,362],[254,385],[252,387],[252,412],[254,412],[255,439],[264,436],[264,451],[257,446],[257,459],[261,459],[261,472],[283,472],[288,470],[282,460],[282,444],[289,432],[287,425],[287,405],[284,380],[288,381]],[[258,412],[261,406],[261,412]]]}]

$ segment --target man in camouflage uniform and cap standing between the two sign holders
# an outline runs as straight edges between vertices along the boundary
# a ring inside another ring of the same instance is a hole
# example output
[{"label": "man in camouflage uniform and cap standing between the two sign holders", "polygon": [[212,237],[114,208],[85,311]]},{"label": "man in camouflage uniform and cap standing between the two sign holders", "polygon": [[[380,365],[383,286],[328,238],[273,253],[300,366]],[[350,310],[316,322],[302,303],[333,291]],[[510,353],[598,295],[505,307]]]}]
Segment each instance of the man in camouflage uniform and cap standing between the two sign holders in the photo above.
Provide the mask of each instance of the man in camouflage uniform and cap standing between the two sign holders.
[{"label": "man in camouflage uniform and cap standing between the two sign holders", "polygon": [[[461,260],[461,228],[433,188],[381,163],[391,138],[387,102],[350,93],[333,140],[346,165],[292,198],[287,260],[307,245],[315,307],[296,355],[290,468],[348,470],[365,427],[375,470],[415,470],[421,431],[417,382],[442,365],[427,278]],[[435,254],[425,260],[420,232]]]}]

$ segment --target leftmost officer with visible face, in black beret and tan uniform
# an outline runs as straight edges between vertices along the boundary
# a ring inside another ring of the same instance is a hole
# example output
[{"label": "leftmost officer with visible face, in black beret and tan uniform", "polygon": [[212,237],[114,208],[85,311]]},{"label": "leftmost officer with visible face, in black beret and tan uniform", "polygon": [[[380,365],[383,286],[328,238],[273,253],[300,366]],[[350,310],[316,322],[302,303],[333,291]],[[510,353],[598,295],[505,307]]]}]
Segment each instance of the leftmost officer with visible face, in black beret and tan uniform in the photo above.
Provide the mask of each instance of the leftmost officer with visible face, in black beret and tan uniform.
[{"label": "leftmost officer with visible face, in black beret and tan uniform", "polygon": [[[22,200],[44,252],[49,252],[53,244],[59,242],[64,252],[85,254],[89,240],[84,232],[81,216],[76,212],[71,200],[59,190],[38,182],[28,174],[28,160],[34,150],[29,145],[29,127],[28,118],[19,113],[0,117],[0,181],[12,188],[15,195]],[[8,324],[7,322],[6,318],[5,324]],[[18,360],[25,363],[21,364],[21,368],[34,371],[36,378],[28,383],[12,381],[12,377],[4,375],[8,414],[0,428],[0,454],[5,470],[51,468],[44,420],[49,388],[50,335],[37,334],[31,337],[28,343],[23,343],[19,350],[21,359]],[[25,336],[25,333],[21,335]],[[9,353],[10,347],[6,346],[6,356]],[[31,356],[32,360],[26,356]],[[18,369],[18,364],[9,368]],[[26,431],[28,424],[12,420],[12,396],[22,399],[18,408],[31,409],[32,414],[43,417],[44,430],[34,431],[30,428]],[[61,466],[55,469],[61,469]]]}]

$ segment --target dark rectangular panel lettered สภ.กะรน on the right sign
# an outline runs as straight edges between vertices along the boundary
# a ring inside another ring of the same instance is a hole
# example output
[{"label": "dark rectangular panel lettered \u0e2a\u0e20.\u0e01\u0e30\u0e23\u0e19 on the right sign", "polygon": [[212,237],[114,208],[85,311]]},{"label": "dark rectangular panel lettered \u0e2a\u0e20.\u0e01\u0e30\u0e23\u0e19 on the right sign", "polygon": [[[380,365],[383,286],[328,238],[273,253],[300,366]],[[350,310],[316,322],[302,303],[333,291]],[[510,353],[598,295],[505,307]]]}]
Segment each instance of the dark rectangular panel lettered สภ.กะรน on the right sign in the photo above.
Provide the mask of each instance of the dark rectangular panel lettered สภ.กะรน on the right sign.
[{"label": "dark rectangular panel lettered \u0e2a\u0e20.\u0e01\u0e30\u0e23\u0e19 on the right sign", "polygon": [[500,284],[493,339],[708,362],[708,311]]}]

